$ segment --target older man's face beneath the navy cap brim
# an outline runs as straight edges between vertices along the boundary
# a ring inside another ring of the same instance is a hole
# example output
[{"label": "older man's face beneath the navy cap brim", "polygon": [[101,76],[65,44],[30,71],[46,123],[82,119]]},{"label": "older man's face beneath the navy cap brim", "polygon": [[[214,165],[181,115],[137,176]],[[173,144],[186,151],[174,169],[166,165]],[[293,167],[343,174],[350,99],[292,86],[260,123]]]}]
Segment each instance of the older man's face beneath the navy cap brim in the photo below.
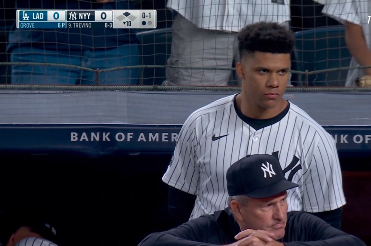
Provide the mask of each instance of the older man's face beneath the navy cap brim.
[{"label": "older man's face beneath the navy cap brim", "polygon": [[275,234],[274,240],[285,236],[288,207],[286,198],[286,192],[263,199],[249,198],[241,213],[246,229],[272,232]]}]

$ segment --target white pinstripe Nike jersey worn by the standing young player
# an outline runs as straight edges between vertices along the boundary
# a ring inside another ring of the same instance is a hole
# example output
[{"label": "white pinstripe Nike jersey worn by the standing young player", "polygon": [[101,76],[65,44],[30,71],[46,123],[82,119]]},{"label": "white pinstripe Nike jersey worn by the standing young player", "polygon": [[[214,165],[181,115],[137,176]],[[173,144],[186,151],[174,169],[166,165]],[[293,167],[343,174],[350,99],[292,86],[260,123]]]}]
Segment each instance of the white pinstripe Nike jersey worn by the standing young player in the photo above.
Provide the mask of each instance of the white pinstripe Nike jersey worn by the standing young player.
[{"label": "white pinstripe Nike jersey worn by the standing young player", "polygon": [[[178,135],[162,181],[197,195],[190,219],[227,207],[226,172],[250,154],[279,158],[285,178],[299,184],[288,191],[288,211],[322,212],[345,205],[336,144],[332,136],[299,107],[289,107],[270,124],[247,119],[234,97],[221,98],[194,111]],[[250,122],[250,123],[247,123]]]}]

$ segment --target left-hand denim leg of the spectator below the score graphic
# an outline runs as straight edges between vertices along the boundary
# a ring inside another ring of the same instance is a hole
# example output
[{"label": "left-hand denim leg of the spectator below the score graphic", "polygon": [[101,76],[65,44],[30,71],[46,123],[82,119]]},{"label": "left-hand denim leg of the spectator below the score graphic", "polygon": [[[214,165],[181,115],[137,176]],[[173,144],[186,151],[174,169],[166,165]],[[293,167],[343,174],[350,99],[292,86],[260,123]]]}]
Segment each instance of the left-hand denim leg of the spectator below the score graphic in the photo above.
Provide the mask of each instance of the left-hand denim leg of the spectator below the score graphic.
[{"label": "left-hand denim leg of the spectator below the score graphic", "polygon": [[[13,49],[10,61],[81,65],[78,54],[70,55],[26,46]],[[81,74],[81,70],[76,68],[13,65],[12,84],[74,85],[81,78]]]}]

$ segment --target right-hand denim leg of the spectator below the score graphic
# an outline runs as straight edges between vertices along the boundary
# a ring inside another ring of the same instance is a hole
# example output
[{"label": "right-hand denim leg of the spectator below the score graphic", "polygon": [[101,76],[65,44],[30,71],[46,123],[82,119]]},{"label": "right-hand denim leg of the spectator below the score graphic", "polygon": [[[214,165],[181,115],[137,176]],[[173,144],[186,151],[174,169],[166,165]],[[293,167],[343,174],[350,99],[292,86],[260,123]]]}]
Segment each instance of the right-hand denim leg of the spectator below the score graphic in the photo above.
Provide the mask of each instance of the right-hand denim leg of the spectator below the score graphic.
[{"label": "right-hand denim leg of the spectator below the score graphic", "polygon": [[[139,47],[135,44],[119,46],[115,49],[85,51],[82,58],[84,67],[100,70],[140,65]],[[99,85],[137,85],[139,68],[120,69],[99,74]],[[81,84],[96,84],[96,73],[83,72]]]}]

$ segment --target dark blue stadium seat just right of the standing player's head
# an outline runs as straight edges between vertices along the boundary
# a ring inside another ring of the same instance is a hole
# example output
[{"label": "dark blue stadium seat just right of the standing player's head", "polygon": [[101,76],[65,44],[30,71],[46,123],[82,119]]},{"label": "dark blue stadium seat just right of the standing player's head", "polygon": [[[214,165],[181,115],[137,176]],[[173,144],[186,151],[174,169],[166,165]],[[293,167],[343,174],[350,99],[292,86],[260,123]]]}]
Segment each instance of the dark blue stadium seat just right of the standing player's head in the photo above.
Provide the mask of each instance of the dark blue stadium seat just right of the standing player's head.
[{"label": "dark blue stadium seat just right of the standing player's head", "polygon": [[[345,27],[333,26],[295,33],[293,70],[315,71],[348,67],[351,61],[345,43]],[[324,72],[309,76],[309,86],[344,86],[348,70]],[[305,76],[294,74],[293,85],[304,85]],[[296,84],[297,83],[297,84]]]}]

